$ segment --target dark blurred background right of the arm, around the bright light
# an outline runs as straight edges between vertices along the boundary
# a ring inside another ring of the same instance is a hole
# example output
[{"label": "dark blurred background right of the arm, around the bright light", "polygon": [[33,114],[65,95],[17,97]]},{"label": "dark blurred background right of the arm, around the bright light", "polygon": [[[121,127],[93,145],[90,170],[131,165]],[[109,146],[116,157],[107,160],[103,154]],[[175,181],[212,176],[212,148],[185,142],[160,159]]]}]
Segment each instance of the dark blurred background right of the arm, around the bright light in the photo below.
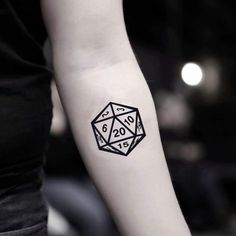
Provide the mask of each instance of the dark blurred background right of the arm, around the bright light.
[{"label": "dark blurred background right of the arm, around the bright light", "polygon": [[[193,231],[234,235],[234,2],[130,0],[124,6],[128,34],[157,105],[164,150],[187,222]],[[181,80],[187,62],[198,63],[205,72],[199,86]],[[184,104],[189,119],[174,127],[162,125],[163,110],[173,120],[179,115],[175,99]]]}]

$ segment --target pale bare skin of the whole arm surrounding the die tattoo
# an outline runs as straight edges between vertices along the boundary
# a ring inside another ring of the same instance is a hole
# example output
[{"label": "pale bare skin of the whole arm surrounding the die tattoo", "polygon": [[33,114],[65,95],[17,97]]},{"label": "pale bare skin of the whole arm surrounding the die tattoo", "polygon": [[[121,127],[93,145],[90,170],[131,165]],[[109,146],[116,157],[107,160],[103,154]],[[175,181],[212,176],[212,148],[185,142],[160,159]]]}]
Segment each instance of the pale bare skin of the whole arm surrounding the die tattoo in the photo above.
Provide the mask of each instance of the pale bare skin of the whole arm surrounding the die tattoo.
[{"label": "pale bare skin of the whole arm surrounding the die tattoo", "polygon": [[[56,83],[83,161],[124,236],[189,236],[156,111],[131,49],[121,0],[41,0]],[[109,103],[137,107],[146,137],[127,156],[98,149],[91,121]]]}]

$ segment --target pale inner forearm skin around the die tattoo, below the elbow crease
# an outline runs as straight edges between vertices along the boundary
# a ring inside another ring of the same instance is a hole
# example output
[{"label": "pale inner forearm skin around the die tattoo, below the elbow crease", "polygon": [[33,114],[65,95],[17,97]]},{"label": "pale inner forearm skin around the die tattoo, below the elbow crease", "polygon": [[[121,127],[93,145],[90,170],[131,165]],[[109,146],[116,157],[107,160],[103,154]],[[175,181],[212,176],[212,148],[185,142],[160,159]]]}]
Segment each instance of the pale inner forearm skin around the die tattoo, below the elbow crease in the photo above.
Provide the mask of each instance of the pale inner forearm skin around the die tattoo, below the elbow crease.
[{"label": "pale inner forearm skin around the die tattoo, below the elbow crease", "polygon": [[[170,182],[152,97],[136,61],[59,73],[57,84],[84,162],[123,235],[189,235]],[[98,149],[91,121],[109,102],[139,110],[146,136],[128,156]]]}]

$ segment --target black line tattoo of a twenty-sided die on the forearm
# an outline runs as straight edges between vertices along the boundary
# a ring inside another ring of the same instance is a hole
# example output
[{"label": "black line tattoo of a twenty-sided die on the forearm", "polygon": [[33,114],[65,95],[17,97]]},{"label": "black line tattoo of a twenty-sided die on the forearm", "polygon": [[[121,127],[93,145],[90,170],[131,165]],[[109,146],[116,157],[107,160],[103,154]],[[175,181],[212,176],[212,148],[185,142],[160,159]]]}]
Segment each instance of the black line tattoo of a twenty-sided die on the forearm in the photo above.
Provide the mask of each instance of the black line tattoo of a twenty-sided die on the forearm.
[{"label": "black line tattoo of a twenty-sided die on the forearm", "polygon": [[146,136],[138,108],[110,102],[91,122],[98,149],[127,156]]}]

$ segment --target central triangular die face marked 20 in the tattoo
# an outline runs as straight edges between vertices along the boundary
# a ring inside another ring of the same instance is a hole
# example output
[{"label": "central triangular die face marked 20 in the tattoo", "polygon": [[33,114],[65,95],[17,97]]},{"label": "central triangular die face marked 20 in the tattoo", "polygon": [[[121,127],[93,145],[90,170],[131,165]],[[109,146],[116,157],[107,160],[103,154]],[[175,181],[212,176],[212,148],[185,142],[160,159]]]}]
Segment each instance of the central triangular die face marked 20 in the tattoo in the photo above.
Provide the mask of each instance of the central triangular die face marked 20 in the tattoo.
[{"label": "central triangular die face marked 20 in the tattoo", "polygon": [[109,143],[134,136],[120,121],[114,120]]}]

